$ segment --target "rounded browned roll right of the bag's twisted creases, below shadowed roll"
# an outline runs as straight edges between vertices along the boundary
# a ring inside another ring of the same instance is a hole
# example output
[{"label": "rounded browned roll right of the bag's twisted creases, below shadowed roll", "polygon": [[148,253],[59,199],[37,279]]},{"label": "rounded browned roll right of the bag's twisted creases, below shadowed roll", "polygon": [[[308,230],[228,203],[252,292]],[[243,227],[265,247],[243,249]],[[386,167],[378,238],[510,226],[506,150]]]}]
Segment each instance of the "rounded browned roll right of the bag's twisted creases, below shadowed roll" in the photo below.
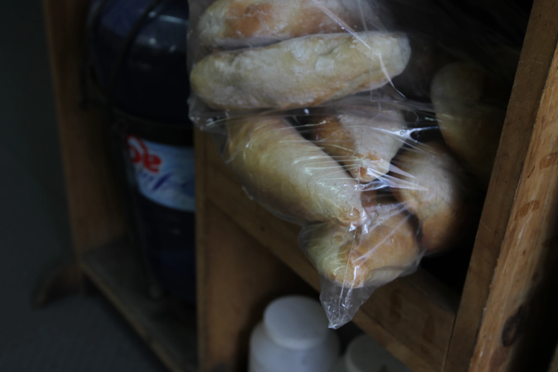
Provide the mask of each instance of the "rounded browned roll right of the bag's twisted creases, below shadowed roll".
[{"label": "rounded browned roll right of the bag's twisted creases, below shadowed roll", "polygon": [[394,177],[415,185],[392,193],[419,218],[422,247],[427,252],[451,248],[469,218],[466,180],[458,162],[444,145],[432,142],[403,152],[393,165],[402,171],[392,172]]}]

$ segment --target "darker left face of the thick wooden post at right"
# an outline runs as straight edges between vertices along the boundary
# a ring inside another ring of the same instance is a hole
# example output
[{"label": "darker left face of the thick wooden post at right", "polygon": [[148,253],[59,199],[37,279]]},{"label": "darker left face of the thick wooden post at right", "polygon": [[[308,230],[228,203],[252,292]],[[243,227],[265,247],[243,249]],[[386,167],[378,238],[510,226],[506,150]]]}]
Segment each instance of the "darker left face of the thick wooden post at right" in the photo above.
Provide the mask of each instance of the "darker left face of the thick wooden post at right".
[{"label": "darker left face of the thick wooden post at right", "polygon": [[468,370],[558,36],[558,3],[535,0],[469,265],[446,372]]}]

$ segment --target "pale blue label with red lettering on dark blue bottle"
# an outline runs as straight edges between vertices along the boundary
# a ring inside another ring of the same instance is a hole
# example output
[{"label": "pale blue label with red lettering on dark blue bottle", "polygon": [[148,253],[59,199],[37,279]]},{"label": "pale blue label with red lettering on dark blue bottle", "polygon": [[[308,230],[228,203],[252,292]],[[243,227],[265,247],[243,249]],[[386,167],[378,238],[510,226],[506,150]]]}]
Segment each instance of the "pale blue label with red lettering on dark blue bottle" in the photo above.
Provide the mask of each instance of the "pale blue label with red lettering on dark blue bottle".
[{"label": "pale blue label with red lettering on dark blue bottle", "polygon": [[157,204],[187,212],[195,209],[194,149],[127,136],[138,189]]}]

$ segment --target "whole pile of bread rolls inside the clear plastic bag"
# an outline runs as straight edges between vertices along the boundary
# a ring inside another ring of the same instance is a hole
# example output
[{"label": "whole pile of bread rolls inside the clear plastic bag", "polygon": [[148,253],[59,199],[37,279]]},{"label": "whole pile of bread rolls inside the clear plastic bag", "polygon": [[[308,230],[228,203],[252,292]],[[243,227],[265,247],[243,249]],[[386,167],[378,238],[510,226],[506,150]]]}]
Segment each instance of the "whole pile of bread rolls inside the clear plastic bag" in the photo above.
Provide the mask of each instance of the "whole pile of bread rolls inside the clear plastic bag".
[{"label": "whole pile of bread rolls inside the clear plastic bag", "polygon": [[[224,159],[248,194],[304,225],[312,263],[349,288],[392,281],[458,243],[470,219],[468,173],[488,182],[503,120],[480,103],[483,69],[440,69],[405,33],[367,31],[362,12],[354,0],[217,0],[199,18],[207,54],[190,75],[206,110],[228,118]],[[443,140],[417,142],[412,109],[400,104],[332,103],[397,91],[393,79],[416,71],[401,86],[431,86]],[[294,122],[287,110],[305,117]]]}]

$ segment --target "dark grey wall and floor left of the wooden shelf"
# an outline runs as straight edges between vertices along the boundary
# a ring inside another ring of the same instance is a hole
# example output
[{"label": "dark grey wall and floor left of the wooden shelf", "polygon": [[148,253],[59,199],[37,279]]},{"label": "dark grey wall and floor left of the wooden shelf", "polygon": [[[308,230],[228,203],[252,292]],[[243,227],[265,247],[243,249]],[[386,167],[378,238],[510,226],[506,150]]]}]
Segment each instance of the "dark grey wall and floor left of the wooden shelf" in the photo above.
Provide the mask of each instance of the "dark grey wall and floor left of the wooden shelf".
[{"label": "dark grey wall and floor left of the wooden shelf", "polygon": [[0,9],[0,370],[165,371],[99,295],[30,306],[71,238],[42,3]]}]

